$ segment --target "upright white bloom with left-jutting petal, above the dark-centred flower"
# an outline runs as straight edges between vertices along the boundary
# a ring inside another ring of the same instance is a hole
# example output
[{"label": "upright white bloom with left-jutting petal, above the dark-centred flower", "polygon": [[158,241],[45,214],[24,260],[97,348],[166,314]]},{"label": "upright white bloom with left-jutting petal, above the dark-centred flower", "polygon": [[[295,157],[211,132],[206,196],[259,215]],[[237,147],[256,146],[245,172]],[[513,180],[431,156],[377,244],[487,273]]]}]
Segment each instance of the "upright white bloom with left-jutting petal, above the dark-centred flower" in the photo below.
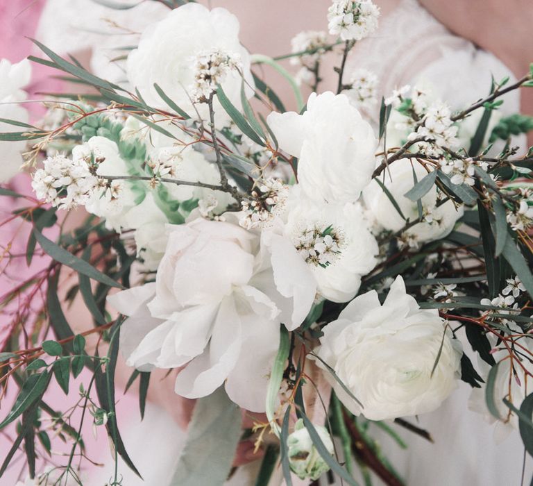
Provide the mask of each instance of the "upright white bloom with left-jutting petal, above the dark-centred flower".
[{"label": "upright white bloom with left-jutting petal, above the dark-centred flower", "polygon": [[378,141],[344,94],[312,93],[303,115],[269,115],[280,147],[298,157],[298,183],[307,196],[329,203],[355,202],[370,182]]}]

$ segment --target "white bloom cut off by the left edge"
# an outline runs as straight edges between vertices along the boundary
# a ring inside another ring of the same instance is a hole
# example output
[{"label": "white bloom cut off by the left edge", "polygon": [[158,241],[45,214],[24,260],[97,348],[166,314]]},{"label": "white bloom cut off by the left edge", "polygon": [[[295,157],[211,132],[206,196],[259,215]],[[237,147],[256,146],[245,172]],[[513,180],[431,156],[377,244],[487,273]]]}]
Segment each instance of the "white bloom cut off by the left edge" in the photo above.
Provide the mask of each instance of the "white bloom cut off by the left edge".
[{"label": "white bloom cut off by the left edge", "polygon": [[[12,64],[7,59],[0,60],[0,118],[12,119],[28,123],[28,110],[17,101],[26,99],[26,92],[22,88],[30,83],[31,65],[27,59]],[[19,126],[0,122],[0,132],[18,132]],[[26,147],[24,140],[20,142],[0,142],[2,164],[0,182],[6,182],[15,176],[22,165],[22,155]]]}]

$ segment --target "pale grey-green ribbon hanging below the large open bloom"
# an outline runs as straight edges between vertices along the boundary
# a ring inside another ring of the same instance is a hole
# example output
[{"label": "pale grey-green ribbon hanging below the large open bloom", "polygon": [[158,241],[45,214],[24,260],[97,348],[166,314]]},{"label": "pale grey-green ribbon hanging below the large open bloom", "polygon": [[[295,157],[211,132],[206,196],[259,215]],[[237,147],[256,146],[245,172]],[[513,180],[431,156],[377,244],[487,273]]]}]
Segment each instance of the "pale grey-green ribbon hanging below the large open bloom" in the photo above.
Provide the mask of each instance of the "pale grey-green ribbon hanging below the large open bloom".
[{"label": "pale grey-green ribbon hanging below the large open bloom", "polygon": [[198,399],[169,486],[222,486],[241,435],[241,411],[223,387]]}]

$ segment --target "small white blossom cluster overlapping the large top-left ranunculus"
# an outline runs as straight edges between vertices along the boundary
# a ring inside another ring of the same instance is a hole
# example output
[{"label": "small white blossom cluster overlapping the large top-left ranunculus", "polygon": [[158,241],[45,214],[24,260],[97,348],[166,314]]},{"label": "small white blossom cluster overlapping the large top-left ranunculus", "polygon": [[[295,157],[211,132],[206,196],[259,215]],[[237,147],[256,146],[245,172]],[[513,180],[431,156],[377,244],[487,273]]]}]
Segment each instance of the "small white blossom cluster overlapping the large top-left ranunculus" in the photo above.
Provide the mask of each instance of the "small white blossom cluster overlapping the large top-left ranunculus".
[{"label": "small white blossom cluster overlapping the large top-left ranunculus", "polygon": [[194,59],[194,101],[208,99],[232,69],[242,67],[239,54],[220,49],[202,51]]}]

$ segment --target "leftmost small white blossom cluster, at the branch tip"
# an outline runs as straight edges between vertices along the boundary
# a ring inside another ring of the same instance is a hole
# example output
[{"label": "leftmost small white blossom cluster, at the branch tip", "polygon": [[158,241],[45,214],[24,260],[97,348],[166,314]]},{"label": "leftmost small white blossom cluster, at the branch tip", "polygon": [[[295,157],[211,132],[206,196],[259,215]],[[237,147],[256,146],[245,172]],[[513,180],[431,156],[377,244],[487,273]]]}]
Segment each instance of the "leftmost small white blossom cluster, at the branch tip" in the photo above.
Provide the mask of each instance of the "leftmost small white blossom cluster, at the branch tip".
[{"label": "leftmost small white blossom cluster, at the branch tip", "polygon": [[35,171],[31,183],[38,199],[60,209],[85,205],[98,184],[86,160],[59,155],[46,158],[44,167]]}]

